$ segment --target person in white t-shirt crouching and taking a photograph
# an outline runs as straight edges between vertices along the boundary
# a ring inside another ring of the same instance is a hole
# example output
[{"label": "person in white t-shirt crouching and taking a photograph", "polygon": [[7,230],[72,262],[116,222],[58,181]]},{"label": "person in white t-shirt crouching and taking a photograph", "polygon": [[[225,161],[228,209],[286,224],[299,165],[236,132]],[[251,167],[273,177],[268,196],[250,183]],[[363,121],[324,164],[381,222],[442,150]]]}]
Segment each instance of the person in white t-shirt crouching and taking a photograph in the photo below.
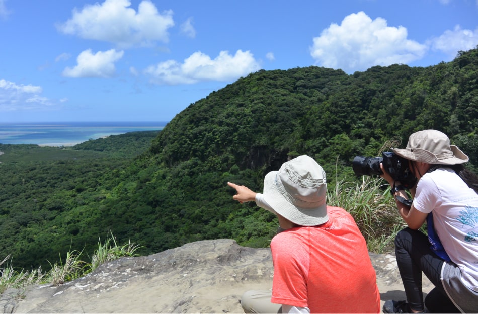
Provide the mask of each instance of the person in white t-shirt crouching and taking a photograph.
[{"label": "person in white t-shirt crouching and taking a photograph", "polygon": [[[411,201],[380,164],[408,225],[395,238],[407,300],[388,300],[383,312],[478,312],[478,177],[463,167],[468,156],[437,130],[413,133],[405,149],[391,150],[408,161],[418,182]],[[425,221],[427,235],[419,230]],[[422,272],[435,285],[425,301]]]}]

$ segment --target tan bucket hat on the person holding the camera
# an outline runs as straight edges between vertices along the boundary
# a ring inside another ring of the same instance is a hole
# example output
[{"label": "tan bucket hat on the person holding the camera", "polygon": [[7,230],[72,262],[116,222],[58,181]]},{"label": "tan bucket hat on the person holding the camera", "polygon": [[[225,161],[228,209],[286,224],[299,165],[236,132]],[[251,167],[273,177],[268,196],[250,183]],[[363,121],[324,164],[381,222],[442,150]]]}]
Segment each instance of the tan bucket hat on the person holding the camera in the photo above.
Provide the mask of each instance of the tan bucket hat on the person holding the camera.
[{"label": "tan bucket hat on the person holding the camera", "polygon": [[395,154],[417,162],[439,165],[456,165],[468,161],[457,146],[450,145],[450,139],[437,130],[424,130],[410,135],[405,149],[391,149]]}]

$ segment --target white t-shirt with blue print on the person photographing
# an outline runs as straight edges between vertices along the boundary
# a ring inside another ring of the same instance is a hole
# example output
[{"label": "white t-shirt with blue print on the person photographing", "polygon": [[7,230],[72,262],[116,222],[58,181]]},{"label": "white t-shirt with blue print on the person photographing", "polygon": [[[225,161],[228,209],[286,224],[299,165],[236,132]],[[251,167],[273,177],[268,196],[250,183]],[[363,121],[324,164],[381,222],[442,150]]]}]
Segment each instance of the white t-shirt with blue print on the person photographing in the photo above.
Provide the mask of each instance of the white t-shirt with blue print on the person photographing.
[{"label": "white t-shirt with blue print on the person photographing", "polygon": [[478,292],[478,194],[450,168],[420,178],[413,206],[433,211],[435,231],[463,283]]}]

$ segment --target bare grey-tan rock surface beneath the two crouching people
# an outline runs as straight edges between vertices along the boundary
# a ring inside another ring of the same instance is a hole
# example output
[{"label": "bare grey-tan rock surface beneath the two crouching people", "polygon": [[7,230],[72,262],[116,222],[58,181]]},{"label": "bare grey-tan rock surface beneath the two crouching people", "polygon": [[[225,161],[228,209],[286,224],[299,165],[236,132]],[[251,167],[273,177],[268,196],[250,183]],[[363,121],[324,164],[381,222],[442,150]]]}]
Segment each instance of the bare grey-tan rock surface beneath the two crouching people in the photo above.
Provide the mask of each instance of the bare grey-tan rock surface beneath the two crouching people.
[{"label": "bare grey-tan rock surface beneath the two crouching people", "polygon": [[[382,303],[405,299],[392,255],[370,254]],[[269,249],[233,240],[198,241],[161,253],[121,258],[54,287],[8,289],[4,313],[242,313],[244,291],[272,287]],[[432,288],[424,278],[424,291]]]}]

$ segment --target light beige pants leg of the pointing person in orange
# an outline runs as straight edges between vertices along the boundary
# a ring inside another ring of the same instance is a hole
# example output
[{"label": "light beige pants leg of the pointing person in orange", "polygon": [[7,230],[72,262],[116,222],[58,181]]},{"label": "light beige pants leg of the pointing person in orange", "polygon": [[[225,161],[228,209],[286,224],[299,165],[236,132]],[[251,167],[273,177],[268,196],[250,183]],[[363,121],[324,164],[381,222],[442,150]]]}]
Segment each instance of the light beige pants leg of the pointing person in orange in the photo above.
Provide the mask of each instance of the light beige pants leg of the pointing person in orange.
[{"label": "light beige pants leg of the pointing person in orange", "polygon": [[282,304],[271,302],[272,290],[249,290],[241,297],[245,313],[282,313]]}]

